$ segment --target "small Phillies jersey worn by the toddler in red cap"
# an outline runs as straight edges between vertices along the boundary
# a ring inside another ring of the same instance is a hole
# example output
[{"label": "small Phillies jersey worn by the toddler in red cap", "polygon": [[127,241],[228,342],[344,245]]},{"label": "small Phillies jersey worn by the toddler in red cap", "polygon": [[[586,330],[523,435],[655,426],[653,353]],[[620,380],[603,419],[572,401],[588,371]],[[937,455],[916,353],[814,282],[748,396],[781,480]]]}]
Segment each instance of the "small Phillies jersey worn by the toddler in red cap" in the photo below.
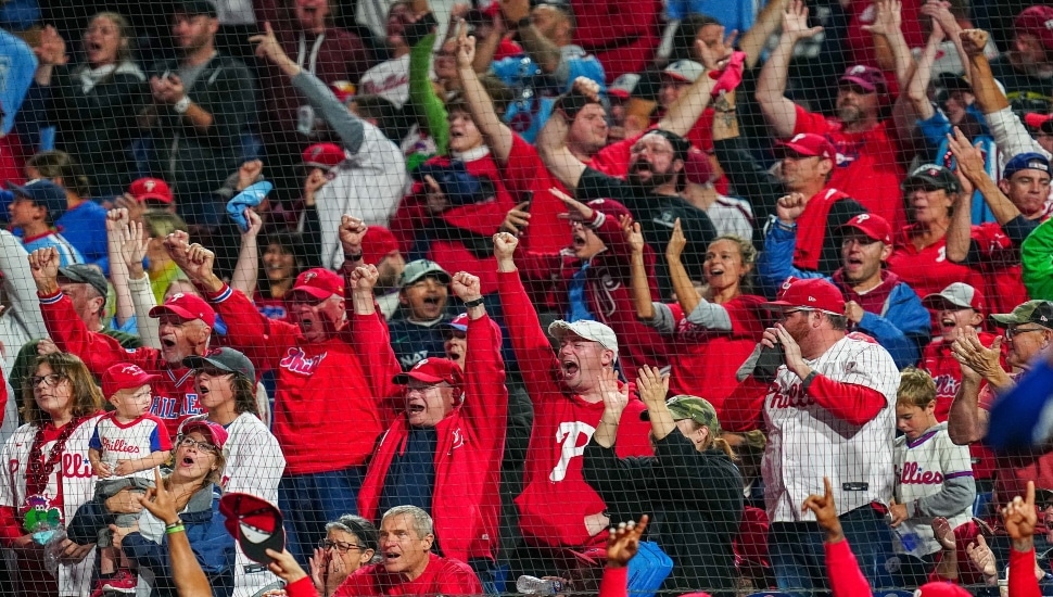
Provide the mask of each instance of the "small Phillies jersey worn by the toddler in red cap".
[{"label": "small Phillies jersey worn by the toddler in red cap", "polygon": [[[114,461],[138,460],[155,452],[172,450],[172,440],[165,422],[153,415],[142,415],[123,423],[117,420],[117,412],[113,411],[99,419],[88,447],[99,450],[103,462],[107,457],[113,458]],[[128,477],[153,481],[153,468],[124,475],[124,478]],[[124,478],[117,474],[112,477],[112,479]]]}]

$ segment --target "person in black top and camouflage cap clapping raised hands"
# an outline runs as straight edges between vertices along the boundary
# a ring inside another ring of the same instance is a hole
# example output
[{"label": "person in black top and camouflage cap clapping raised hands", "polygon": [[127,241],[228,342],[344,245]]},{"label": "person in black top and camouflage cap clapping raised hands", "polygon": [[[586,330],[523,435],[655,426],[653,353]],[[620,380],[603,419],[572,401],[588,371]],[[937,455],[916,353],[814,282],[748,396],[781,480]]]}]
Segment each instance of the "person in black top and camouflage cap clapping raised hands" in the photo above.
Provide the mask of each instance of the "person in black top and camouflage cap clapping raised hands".
[{"label": "person in black top and camouflage cap clapping raised hands", "polygon": [[642,367],[636,380],[651,423],[654,457],[618,458],[618,422],[629,391],[604,398],[604,415],[585,446],[582,474],[604,498],[611,520],[625,512],[651,515],[659,546],[673,560],[667,589],[733,595],[736,585],[732,542],[743,517],[743,478],[732,449],[721,437],[713,405],[697,396],[665,401],[669,381]]}]

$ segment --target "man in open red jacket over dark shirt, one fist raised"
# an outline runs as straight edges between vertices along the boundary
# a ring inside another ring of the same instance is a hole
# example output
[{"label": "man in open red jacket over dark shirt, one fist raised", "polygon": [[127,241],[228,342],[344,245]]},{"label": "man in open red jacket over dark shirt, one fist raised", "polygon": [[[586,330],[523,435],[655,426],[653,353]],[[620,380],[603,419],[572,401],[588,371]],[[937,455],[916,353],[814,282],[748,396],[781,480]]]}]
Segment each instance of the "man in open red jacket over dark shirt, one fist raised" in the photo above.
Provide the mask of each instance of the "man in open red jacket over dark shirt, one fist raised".
[{"label": "man in open red jacket over dark shirt, one fist raised", "polygon": [[508,410],[500,328],[482,305],[479,278],[460,271],[452,285],[468,306],[464,368],[429,356],[395,376],[406,386],[405,415],[369,461],[358,510],[368,520],[397,505],[430,511],[443,554],[492,584],[505,448],[505,425],[494,421]]}]

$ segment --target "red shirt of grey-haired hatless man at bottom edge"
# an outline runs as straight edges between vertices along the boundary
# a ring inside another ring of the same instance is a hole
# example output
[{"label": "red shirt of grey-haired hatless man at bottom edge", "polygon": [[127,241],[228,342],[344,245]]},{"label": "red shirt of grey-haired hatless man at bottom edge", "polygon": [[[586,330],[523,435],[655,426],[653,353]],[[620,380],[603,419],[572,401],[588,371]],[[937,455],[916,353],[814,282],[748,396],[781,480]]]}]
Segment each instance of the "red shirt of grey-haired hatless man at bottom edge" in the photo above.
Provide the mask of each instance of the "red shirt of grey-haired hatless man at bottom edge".
[{"label": "red shirt of grey-haired hatless man at bottom edge", "polygon": [[391,574],[383,563],[359,568],[337,587],[333,597],[380,597],[397,595],[482,595],[483,585],[465,562],[428,555],[428,568],[413,581]]}]

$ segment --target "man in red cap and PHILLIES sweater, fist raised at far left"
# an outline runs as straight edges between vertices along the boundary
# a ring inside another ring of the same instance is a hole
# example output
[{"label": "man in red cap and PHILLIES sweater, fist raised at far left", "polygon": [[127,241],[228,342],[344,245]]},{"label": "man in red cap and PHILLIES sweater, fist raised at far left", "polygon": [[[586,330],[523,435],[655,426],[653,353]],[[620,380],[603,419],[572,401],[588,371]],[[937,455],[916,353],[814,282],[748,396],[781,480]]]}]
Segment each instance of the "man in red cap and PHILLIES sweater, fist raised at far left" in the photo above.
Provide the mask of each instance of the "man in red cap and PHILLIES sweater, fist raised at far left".
[{"label": "man in red cap and PHILLIES sweater, fist raised at far left", "polygon": [[172,436],[183,419],[203,412],[193,376],[182,359],[208,351],[208,339],[216,325],[216,314],[208,303],[192,294],[172,295],[164,305],[150,309],[150,317],[161,320],[161,348],[143,346],[129,352],[116,339],[88,329],[77,314],[73,298],[59,285],[58,251],[34,251],[29,267],[48,333],[60,351],[79,356],[98,377],[116,363],[131,363],[148,373],[160,374],[161,379],[151,384],[150,412],[164,419]]}]

